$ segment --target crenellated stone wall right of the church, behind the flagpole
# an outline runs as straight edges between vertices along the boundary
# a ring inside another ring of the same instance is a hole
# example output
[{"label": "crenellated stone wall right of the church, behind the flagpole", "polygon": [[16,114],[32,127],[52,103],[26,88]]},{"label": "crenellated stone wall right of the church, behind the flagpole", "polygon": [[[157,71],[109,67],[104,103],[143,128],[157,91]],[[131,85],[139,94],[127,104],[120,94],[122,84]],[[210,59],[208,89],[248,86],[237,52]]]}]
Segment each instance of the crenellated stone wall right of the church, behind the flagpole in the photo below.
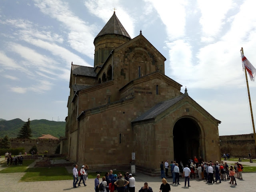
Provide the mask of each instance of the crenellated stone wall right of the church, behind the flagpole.
[{"label": "crenellated stone wall right of the church, behind the flagpole", "polygon": [[256,147],[253,134],[220,136],[220,152],[230,153],[231,157],[256,157]]}]

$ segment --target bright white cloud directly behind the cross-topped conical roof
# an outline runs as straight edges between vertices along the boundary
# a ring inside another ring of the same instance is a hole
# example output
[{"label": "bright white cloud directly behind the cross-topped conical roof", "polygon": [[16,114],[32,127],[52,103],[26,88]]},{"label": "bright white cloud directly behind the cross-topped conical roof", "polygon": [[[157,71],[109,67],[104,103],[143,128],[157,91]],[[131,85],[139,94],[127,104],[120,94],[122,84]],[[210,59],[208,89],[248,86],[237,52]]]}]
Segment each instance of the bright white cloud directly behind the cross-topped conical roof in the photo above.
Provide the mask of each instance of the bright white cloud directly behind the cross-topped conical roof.
[{"label": "bright white cloud directly behind the cross-topped conical roof", "polygon": [[[113,14],[113,5],[117,8],[116,16],[131,36],[134,37],[134,18],[131,17],[130,14],[127,13],[127,8],[123,7],[118,0],[87,0],[85,3],[86,8],[88,11],[101,18],[104,23],[106,24],[110,17]],[[99,31],[100,32],[100,31]],[[98,33],[99,33],[98,32]]]}]

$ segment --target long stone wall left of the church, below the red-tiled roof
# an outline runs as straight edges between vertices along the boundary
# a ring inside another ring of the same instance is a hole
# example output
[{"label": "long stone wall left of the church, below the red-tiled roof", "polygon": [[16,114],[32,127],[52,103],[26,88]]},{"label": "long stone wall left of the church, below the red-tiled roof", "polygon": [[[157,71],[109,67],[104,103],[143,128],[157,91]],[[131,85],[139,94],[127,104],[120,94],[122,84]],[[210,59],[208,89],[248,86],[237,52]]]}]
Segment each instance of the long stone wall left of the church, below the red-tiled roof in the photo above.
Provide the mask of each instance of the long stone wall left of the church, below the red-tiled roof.
[{"label": "long stone wall left of the church, below the red-tiled roof", "polygon": [[11,148],[20,148],[23,147],[25,152],[29,152],[29,150],[35,145],[37,147],[39,154],[44,154],[44,151],[48,151],[48,154],[54,154],[57,146],[60,144],[60,140],[58,139],[18,139],[11,138],[10,139]]}]

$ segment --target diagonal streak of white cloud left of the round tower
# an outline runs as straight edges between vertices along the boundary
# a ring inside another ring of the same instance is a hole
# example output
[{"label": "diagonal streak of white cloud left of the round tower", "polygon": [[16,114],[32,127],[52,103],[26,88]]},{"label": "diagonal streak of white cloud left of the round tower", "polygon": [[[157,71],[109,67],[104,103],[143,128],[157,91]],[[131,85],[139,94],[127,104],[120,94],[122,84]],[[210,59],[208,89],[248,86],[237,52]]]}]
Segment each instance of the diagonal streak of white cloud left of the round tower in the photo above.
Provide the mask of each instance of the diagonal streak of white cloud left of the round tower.
[{"label": "diagonal streak of white cloud left of the round tower", "polygon": [[94,25],[89,25],[75,16],[68,7],[68,3],[60,0],[34,0],[35,6],[50,17],[62,22],[69,30],[68,42],[74,50],[94,58]]}]

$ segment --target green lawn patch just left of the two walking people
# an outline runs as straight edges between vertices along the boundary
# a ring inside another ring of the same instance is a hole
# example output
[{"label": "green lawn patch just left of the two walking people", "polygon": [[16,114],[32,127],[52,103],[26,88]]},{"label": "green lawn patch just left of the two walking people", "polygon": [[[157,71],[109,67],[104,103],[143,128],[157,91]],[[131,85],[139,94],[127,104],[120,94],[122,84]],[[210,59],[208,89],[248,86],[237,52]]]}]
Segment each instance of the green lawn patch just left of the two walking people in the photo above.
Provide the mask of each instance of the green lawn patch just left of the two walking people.
[{"label": "green lawn patch just left of the two walking people", "polygon": [[26,174],[20,179],[21,182],[32,181],[55,181],[73,179],[65,167],[38,167],[28,168]]}]

